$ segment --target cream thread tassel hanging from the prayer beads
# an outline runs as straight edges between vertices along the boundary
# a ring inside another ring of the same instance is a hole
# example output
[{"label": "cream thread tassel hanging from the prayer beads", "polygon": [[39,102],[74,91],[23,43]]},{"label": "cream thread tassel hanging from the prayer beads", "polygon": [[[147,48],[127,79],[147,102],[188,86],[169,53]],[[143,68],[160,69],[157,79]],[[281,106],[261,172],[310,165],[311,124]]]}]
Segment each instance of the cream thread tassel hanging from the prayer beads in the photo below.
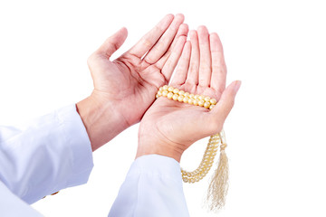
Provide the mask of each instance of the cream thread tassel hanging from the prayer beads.
[{"label": "cream thread tassel hanging from the prayer beads", "polygon": [[228,190],[228,159],[225,153],[224,132],[220,133],[220,157],[215,174],[208,187],[207,202],[211,211],[217,211],[225,205],[225,196]]}]

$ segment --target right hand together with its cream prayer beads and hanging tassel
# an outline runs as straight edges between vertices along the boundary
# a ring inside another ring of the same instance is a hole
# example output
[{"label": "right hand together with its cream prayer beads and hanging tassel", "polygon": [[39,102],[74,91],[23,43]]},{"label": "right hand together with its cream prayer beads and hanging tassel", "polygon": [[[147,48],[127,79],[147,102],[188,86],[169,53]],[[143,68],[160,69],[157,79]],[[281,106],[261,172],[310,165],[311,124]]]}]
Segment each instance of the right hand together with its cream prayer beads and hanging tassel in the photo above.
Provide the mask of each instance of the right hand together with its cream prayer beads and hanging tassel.
[{"label": "right hand together with its cream prayer beads and hanging tassel", "polygon": [[[204,158],[193,172],[181,172],[185,182],[202,179],[214,164],[220,146],[220,164],[208,190],[207,205],[211,210],[222,207],[227,191],[227,157],[222,128],[233,108],[241,82],[235,81],[225,89],[226,68],[222,44],[216,33],[205,26],[191,31],[171,86],[159,88],[157,99],[140,122],[139,148],[136,157],[144,155],[169,156],[178,162],[197,140],[211,137]],[[177,88],[177,89],[176,89]],[[209,97],[203,96],[203,94]],[[154,95],[152,96],[154,98]],[[218,100],[216,102],[215,98]]]}]

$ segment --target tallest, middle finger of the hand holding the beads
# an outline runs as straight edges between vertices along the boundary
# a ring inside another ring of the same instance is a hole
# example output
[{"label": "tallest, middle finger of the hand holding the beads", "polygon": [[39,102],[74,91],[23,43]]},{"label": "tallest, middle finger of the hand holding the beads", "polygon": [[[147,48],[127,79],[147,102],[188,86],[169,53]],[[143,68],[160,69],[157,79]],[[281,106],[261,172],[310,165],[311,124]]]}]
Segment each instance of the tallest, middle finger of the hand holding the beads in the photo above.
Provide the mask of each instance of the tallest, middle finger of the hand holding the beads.
[{"label": "tallest, middle finger of the hand holding the beads", "polygon": [[198,27],[198,42],[200,52],[199,85],[208,87],[212,73],[212,62],[209,48],[209,34],[206,26]]}]

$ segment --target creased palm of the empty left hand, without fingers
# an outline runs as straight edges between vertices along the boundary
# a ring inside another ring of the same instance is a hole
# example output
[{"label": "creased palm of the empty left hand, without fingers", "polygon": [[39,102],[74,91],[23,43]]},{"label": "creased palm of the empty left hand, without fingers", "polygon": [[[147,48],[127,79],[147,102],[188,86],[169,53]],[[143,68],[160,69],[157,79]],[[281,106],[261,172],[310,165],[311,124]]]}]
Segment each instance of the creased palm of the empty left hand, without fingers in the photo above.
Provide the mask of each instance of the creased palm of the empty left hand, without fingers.
[{"label": "creased palm of the empty left hand, without fingers", "polygon": [[153,102],[155,92],[166,82],[155,64],[150,65],[129,53],[115,61],[102,60],[97,67],[99,70],[94,70],[99,73],[94,76],[95,91],[106,93],[110,96],[108,100],[119,102],[118,110],[124,111],[130,123],[139,121]]}]

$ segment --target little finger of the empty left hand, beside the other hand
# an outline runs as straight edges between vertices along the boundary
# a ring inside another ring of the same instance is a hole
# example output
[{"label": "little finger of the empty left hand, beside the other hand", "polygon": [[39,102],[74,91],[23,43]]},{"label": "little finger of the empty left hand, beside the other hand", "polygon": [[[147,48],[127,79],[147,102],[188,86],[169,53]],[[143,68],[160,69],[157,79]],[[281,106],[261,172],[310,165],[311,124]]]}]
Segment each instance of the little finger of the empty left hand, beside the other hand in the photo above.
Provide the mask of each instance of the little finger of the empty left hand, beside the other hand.
[{"label": "little finger of the empty left hand, beside the other hand", "polygon": [[185,36],[179,37],[179,39],[177,40],[177,44],[173,49],[173,52],[168,57],[168,61],[166,62],[166,64],[163,66],[162,74],[164,75],[167,81],[170,80],[171,75],[177,66],[177,61],[180,59],[181,52],[186,41],[187,41],[187,37]]}]

